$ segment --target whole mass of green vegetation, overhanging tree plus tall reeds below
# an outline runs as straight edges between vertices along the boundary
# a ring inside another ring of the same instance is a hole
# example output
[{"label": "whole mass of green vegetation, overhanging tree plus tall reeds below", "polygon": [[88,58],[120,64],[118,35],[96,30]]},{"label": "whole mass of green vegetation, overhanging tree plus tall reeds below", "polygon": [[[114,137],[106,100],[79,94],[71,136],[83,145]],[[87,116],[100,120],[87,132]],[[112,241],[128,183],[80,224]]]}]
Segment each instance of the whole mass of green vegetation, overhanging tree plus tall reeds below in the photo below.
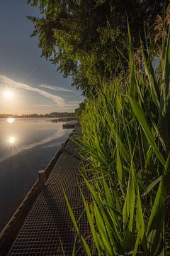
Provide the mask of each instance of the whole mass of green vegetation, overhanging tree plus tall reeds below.
[{"label": "whole mass of green vegetation, overhanging tree plus tall reeds below", "polygon": [[77,114],[91,247],[65,195],[84,252],[170,255],[168,1],[29,2],[40,4],[30,19],[42,55],[88,96]]}]

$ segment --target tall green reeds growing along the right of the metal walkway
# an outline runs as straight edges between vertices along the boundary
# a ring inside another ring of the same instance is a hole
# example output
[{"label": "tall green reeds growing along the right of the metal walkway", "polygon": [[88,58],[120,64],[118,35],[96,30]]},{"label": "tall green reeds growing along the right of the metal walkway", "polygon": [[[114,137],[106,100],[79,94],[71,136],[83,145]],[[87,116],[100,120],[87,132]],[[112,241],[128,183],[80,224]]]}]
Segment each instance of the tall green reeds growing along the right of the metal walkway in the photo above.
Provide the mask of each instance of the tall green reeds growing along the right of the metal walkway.
[{"label": "tall green reeds growing along the right of the metal walkway", "polygon": [[159,72],[148,49],[138,70],[129,31],[129,74],[103,85],[81,114],[93,250],[67,205],[86,255],[170,255],[169,35],[163,45]]}]

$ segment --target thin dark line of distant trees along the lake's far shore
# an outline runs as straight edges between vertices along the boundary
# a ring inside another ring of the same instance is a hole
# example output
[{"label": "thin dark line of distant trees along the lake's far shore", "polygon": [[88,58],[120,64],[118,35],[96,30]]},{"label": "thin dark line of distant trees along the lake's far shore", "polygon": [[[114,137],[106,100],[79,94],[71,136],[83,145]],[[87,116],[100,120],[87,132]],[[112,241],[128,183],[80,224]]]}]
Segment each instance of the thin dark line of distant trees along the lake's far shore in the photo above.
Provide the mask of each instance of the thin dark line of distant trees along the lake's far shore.
[{"label": "thin dark line of distant trees along the lake's far shore", "polygon": [[50,114],[22,114],[22,115],[17,115],[17,114],[0,114],[0,118],[21,118],[21,117],[74,117],[74,113],[71,112],[52,112]]}]

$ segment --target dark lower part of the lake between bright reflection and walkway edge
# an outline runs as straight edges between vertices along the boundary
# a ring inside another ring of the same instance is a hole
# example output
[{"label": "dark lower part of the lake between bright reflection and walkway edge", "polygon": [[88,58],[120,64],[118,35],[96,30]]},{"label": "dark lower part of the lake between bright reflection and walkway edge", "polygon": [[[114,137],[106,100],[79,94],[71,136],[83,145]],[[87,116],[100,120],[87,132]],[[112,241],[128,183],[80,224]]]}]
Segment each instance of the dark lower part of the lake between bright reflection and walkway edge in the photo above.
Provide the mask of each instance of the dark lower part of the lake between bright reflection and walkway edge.
[{"label": "dark lower part of the lake between bright reflection and walkway edge", "polygon": [[0,232],[38,179],[38,171],[45,169],[66,139],[64,135],[51,141],[56,146],[35,146],[0,163]]}]

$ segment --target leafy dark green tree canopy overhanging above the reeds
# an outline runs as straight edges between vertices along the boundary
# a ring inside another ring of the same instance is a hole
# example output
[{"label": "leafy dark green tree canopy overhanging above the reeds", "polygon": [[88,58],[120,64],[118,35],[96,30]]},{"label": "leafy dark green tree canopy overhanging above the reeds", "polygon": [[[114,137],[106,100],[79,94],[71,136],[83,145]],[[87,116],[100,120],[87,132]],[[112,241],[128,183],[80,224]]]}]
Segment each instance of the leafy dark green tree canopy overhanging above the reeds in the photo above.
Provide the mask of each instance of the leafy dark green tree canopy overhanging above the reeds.
[{"label": "leafy dark green tree canopy overhanging above the reeds", "polygon": [[40,9],[32,36],[38,36],[42,56],[57,65],[84,95],[102,78],[112,78],[127,66],[127,16],[132,41],[145,41],[144,23],[153,29],[164,15],[163,0],[28,0]]}]

